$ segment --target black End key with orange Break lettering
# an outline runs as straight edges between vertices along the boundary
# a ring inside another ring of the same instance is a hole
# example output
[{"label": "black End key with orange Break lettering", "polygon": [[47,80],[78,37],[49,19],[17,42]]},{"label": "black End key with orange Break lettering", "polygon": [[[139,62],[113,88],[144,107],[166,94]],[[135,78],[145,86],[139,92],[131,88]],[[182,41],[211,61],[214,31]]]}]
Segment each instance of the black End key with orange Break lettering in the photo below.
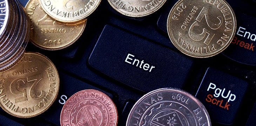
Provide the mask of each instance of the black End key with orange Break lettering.
[{"label": "black End key with orange Break lettering", "polygon": [[256,65],[256,17],[236,11],[236,34],[223,54],[234,61]]}]

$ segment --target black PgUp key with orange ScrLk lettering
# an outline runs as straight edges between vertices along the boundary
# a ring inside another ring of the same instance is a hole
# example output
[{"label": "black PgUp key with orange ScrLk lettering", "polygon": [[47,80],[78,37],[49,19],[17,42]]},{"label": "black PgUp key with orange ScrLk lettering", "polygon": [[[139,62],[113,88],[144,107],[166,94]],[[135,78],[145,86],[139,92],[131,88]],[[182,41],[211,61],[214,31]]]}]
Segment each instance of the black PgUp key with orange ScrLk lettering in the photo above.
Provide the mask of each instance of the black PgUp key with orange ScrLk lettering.
[{"label": "black PgUp key with orange ScrLk lettering", "polygon": [[223,71],[208,68],[196,97],[209,112],[211,121],[232,124],[247,90],[248,82]]}]

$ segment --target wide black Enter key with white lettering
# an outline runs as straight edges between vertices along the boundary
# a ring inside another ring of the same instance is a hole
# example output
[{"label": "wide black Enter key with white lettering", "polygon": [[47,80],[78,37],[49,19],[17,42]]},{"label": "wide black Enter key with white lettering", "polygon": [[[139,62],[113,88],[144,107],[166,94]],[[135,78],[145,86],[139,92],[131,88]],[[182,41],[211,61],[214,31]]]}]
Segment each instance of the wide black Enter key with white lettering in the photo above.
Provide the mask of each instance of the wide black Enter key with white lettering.
[{"label": "wide black Enter key with white lettering", "polygon": [[182,88],[192,63],[190,58],[109,25],[89,57],[93,68],[145,92]]}]

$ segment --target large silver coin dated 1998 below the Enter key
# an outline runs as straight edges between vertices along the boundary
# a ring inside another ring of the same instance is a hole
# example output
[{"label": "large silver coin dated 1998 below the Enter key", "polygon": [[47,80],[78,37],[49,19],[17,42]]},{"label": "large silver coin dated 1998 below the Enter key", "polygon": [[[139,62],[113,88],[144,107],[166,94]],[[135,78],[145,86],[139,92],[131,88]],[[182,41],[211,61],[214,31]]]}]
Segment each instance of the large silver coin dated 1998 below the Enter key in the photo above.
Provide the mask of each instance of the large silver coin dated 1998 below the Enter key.
[{"label": "large silver coin dated 1998 below the Enter key", "polygon": [[172,88],[151,91],[129,113],[126,126],[211,126],[203,104],[191,94]]}]

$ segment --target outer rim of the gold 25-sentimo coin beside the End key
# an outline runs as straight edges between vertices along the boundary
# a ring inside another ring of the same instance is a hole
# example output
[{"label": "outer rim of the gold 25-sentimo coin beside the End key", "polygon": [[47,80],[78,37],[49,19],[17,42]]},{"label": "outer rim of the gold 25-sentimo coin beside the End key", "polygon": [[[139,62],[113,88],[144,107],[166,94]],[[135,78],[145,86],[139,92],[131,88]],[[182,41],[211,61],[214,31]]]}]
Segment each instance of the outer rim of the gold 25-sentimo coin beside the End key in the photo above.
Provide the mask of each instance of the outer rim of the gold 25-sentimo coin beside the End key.
[{"label": "outer rim of the gold 25-sentimo coin beside the End key", "polygon": [[178,49],[180,50],[183,54],[186,54],[188,56],[191,56],[191,57],[195,57],[195,58],[208,58],[208,57],[212,57],[212,56],[215,56],[217,54],[220,54],[223,50],[225,50],[229,44],[231,43],[231,41],[233,40],[234,36],[235,36],[235,33],[236,33],[236,15],[235,15],[235,12],[234,10],[231,8],[231,6],[229,5],[229,3],[225,0],[221,0],[225,5],[227,5],[228,9],[230,10],[232,16],[233,16],[233,21],[234,21],[234,27],[233,27],[233,32],[232,32],[232,35],[230,36],[229,38],[229,41],[227,41],[227,44],[224,45],[223,48],[221,48],[220,50],[217,50],[216,52],[214,53],[210,53],[210,54],[206,54],[206,55],[203,55],[203,56],[200,56],[200,55],[193,55],[193,53],[188,53],[187,51],[184,51],[183,48],[181,48],[180,46],[178,46],[178,44],[175,43],[175,40],[174,39],[174,36],[171,35],[171,14],[175,11],[175,8],[184,0],[178,0],[175,5],[171,8],[170,12],[169,12],[169,15],[168,15],[168,19],[167,19],[167,32],[168,32],[168,36],[171,40],[171,43],[173,43],[173,45]]}]

